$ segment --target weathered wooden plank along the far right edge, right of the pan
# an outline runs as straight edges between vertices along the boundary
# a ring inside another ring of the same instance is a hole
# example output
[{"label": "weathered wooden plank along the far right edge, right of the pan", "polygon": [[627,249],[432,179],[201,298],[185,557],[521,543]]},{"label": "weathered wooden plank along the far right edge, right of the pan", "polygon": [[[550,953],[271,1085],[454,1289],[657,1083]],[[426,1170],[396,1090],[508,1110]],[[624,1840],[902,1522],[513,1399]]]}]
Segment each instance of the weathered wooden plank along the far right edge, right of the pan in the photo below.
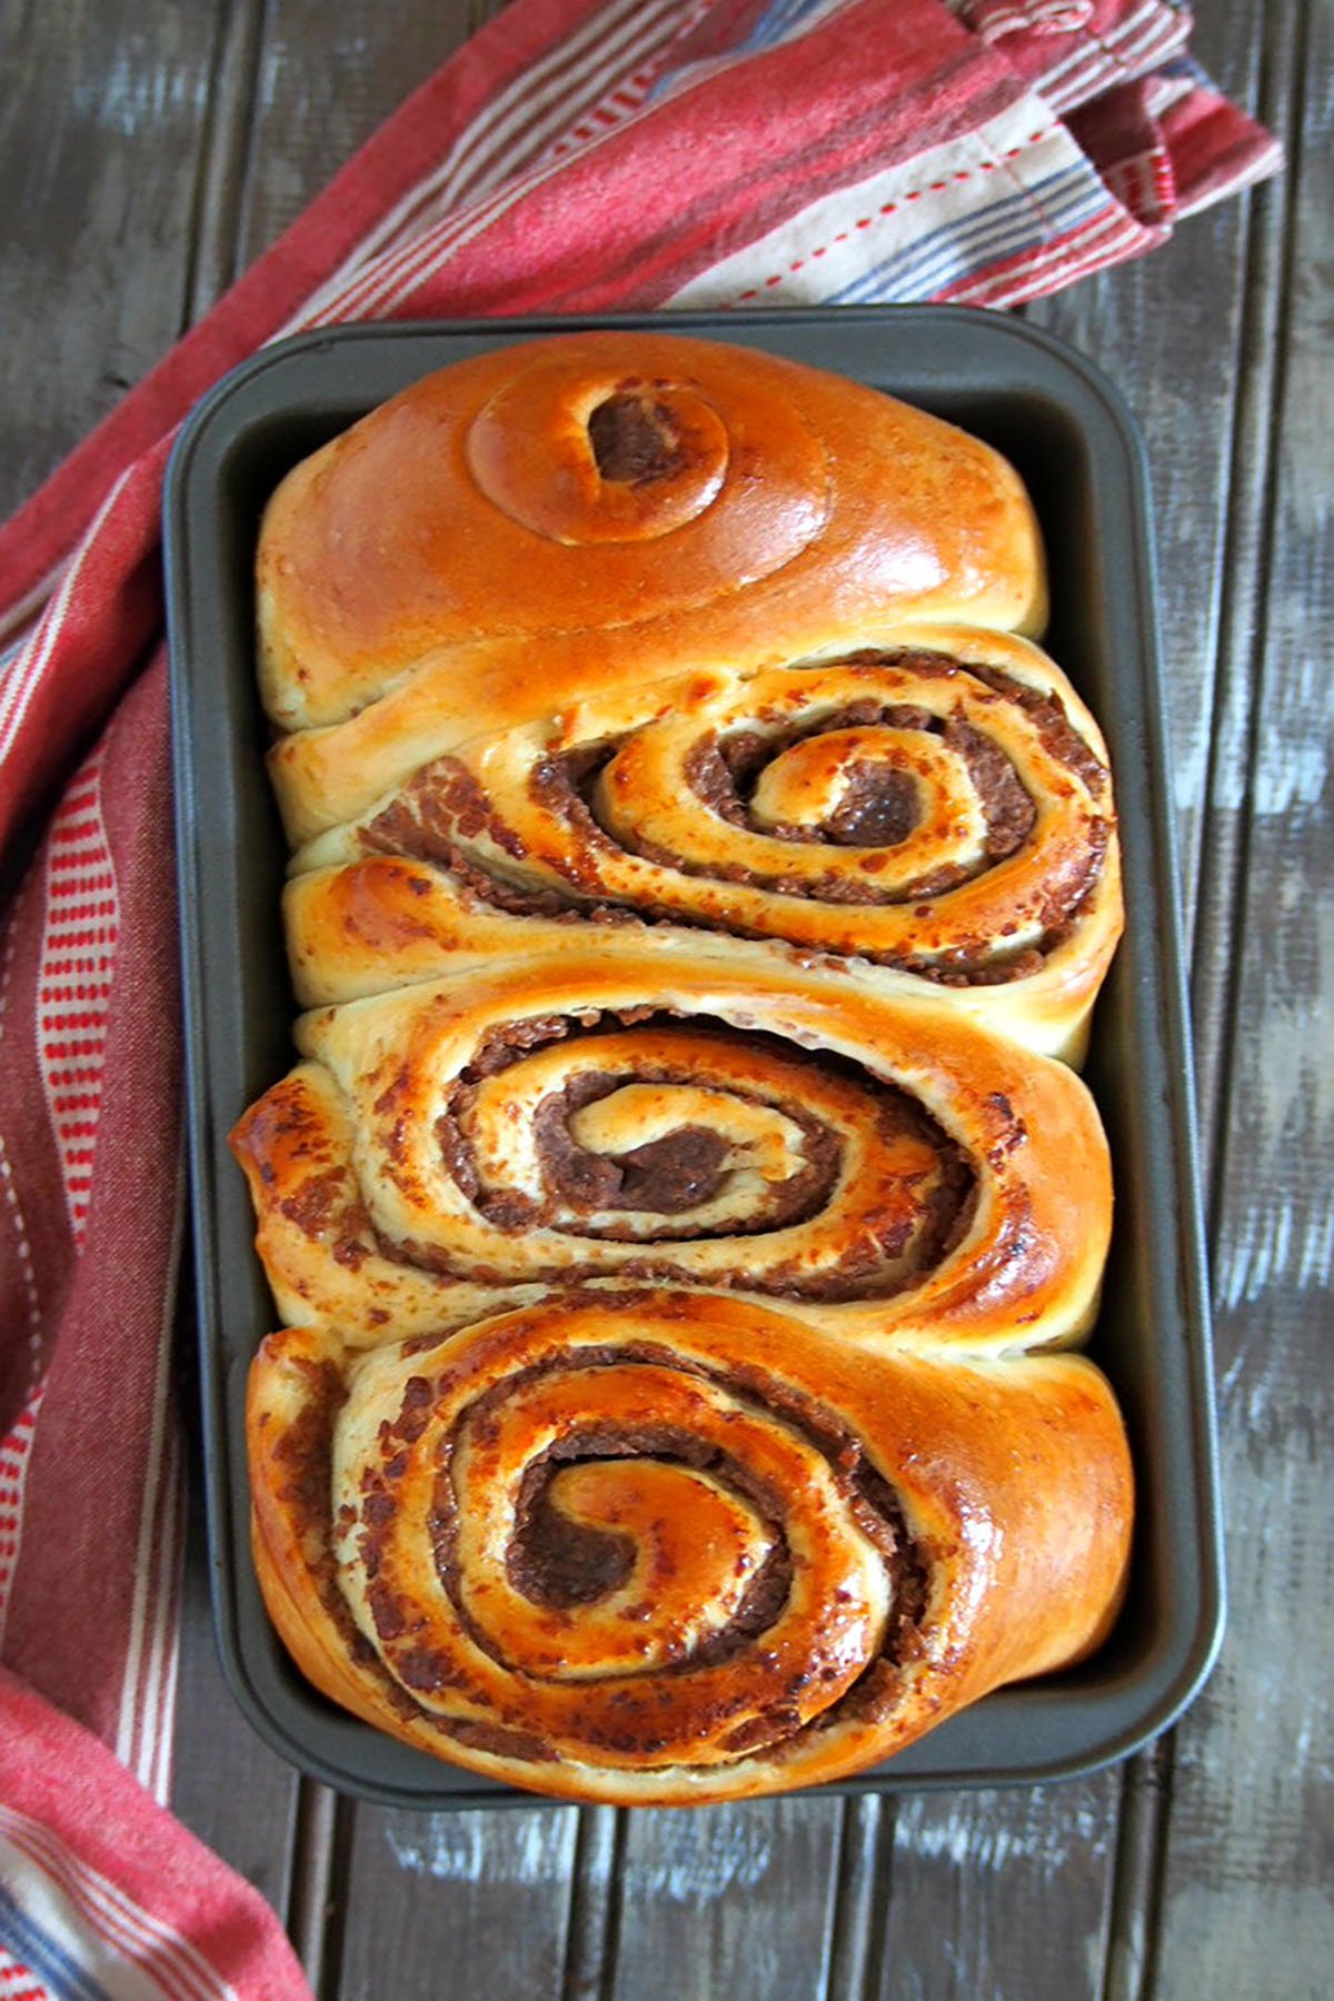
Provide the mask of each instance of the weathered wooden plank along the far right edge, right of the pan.
[{"label": "weathered wooden plank along the far right edge, right of the pan", "polygon": [[[1290,170],[1256,216],[1264,328],[1250,398],[1268,446],[1238,472],[1230,714],[1214,766],[1218,996],[1214,1293],[1232,1619],[1178,1733],[1158,1991],[1330,1991],[1334,1963],[1328,1607],[1334,1587],[1328,1331],[1334,1217],[1334,826],[1330,824],[1330,316],[1334,18],[1284,12],[1264,106]],[[1240,736],[1240,740],[1238,740]],[[1230,922],[1226,920],[1230,914]],[[1224,960],[1226,952],[1226,960]]]}]

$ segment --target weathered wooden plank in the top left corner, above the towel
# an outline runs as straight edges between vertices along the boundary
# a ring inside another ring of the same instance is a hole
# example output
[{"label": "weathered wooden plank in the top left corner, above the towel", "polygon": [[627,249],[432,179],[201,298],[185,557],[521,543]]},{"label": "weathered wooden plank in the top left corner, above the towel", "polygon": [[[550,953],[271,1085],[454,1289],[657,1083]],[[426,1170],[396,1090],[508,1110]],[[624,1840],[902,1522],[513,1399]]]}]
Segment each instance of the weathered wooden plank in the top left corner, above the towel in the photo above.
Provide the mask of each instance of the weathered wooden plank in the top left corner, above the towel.
[{"label": "weathered wooden plank in the top left corner, above the towel", "polygon": [[0,10],[0,516],[184,324],[212,8]]}]

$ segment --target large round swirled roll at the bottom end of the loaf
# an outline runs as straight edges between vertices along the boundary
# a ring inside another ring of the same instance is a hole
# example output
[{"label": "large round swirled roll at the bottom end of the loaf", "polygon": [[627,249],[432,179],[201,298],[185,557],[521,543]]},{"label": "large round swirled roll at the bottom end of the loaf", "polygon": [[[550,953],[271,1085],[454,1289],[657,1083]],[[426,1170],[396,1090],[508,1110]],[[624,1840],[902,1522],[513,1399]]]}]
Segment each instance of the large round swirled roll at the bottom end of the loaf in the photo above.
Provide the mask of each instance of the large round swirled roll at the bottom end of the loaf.
[{"label": "large round swirled roll at the bottom end of the loaf", "polygon": [[1124,1587],[1126,1443],[1078,1357],[854,1363],[804,1311],[672,1293],[386,1349],[346,1399],[308,1353],[250,1379],[258,1463],[332,1465],[300,1533],[256,1517],[274,1619],[336,1701],[520,1787],[846,1777],[1078,1659]]}]

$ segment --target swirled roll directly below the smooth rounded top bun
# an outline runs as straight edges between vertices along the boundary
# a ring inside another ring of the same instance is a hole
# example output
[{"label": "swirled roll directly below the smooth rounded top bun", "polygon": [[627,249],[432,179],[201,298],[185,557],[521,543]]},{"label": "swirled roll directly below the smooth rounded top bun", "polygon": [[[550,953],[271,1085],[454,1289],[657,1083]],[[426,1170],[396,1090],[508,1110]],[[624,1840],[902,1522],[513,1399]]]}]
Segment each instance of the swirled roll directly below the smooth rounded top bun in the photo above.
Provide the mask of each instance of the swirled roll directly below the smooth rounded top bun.
[{"label": "swirled roll directly below the smooth rounded top bun", "polygon": [[424,766],[294,870],[306,1003],[640,916],[910,972],[1068,1061],[1122,924],[1094,718],[1028,640],[964,626],[580,702]]}]

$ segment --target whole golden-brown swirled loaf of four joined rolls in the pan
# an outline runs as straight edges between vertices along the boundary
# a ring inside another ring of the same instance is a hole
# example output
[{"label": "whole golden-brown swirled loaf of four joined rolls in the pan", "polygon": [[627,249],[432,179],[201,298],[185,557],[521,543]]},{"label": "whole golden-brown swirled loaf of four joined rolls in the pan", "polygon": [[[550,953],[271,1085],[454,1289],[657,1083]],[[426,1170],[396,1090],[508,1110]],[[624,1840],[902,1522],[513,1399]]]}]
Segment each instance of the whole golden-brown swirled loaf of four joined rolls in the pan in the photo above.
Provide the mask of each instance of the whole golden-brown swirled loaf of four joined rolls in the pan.
[{"label": "whole golden-brown swirled loaf of four joined rolls in the pan", "polygon": [[674,334],[294,468],[260,684],[302,1063],[234,1135],[304,1673],[520,1787],[848,1777],[1098,1645],[1130,1463],[1094,718],[986,444]]}]

